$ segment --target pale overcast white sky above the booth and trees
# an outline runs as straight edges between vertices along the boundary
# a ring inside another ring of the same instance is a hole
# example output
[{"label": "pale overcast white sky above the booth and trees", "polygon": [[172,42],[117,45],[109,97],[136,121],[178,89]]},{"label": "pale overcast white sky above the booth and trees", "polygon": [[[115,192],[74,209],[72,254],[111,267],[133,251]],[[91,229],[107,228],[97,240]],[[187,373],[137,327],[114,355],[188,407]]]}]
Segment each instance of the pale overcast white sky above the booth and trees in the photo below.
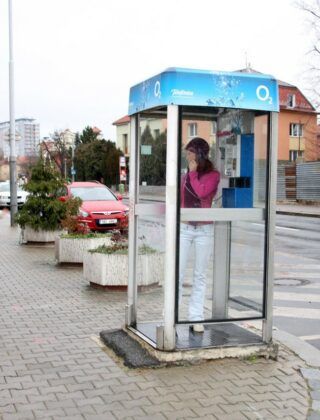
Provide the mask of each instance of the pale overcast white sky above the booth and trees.
[{"label": "pale overcast white sky above the booth and trees", "polygon": [[[12,0],[16,118],[102,129],[128,112],[131,86],[168,67],[251,67],[306,92],[312,45],[292,0]],[[0,0],[0,121],[9,120],[8,1]],[[308,95],[307,95],[308,96]]]}]

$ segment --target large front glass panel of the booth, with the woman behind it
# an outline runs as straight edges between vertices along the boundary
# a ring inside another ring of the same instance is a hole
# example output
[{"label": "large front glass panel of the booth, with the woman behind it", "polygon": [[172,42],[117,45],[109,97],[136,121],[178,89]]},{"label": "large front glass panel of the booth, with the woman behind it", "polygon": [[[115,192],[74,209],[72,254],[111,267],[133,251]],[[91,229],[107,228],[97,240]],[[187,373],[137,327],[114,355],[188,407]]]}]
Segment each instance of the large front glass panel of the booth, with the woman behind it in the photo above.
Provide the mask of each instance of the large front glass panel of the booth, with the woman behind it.
[{"label": "large front glass panel of the booth, with the woman behind it", "polygon": [[181,124],[177,322],[261,318],[268,117],[185,107]]}]

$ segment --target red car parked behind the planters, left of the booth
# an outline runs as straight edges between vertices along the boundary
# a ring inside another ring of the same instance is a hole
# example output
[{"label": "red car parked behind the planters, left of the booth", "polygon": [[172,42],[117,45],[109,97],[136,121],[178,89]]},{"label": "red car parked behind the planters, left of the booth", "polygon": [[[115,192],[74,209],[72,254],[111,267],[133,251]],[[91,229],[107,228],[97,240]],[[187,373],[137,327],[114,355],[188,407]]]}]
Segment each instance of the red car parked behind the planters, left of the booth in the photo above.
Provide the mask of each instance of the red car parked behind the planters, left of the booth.
[{"label": "red car parked behind the planters, left of the booth", "polygon": [[72,182],[66,186],[66,195],[60,199],[68,197],[81,198],[78,220],[90,230],[127,229],[129,208],[122,203],[120,194],[114,194],[100,182]]}]

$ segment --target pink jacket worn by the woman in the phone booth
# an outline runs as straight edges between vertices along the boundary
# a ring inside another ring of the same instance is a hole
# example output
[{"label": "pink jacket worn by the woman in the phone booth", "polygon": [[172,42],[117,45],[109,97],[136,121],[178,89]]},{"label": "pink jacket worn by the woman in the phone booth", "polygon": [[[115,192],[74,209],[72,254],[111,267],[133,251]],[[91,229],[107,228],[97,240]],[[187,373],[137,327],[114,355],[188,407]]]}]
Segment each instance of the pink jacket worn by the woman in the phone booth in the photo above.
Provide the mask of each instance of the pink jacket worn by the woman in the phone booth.
[{"label": "pink jacket worn by the woman in the phone booth", "polygon": [[[212,206],[212,200],[215,196],[218,185],[220,182],[220,173],[218,171],[211,171],[201,176],[198,179],[197,171],[190,171],[190,184],[194,192],[200,198],[202,208],[210,208]],[[185,207],[184,204],[184,188],[186,183],[187,174],[182,178],[181,185],[181,207]]]}]

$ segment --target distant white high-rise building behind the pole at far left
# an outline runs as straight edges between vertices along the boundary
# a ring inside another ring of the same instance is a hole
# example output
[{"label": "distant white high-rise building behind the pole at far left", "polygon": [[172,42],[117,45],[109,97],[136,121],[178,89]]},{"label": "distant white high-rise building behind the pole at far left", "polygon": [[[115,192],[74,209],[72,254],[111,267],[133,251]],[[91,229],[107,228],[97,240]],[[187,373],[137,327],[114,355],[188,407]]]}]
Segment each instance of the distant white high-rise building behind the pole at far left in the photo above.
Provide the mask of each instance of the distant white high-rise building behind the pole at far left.
[{"label": "distant white high-rise building behind the pole at far left", "polygon": [[[10,121],[0,122],[0,154],[10,156]],[[40,124],[33,118],[16,120],[16,156],[36,156],[39,153]]]}]

